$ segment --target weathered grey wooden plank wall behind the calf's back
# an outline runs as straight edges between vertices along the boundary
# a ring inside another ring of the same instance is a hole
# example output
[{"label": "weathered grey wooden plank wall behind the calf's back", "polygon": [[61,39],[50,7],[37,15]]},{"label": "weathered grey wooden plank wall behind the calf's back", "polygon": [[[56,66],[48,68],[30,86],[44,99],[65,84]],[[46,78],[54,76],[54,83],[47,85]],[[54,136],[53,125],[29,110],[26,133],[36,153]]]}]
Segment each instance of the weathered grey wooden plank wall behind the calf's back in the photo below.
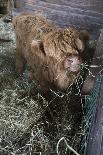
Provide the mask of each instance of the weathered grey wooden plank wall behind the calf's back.
[{"label": "weathered grey wooden plank wall behind the calf's back", "polygon": [[103,27],[102,0],[15,0],[15,7],[14,15],[25,11],[41,12],[61,27],[87,29],[96,38]]}]

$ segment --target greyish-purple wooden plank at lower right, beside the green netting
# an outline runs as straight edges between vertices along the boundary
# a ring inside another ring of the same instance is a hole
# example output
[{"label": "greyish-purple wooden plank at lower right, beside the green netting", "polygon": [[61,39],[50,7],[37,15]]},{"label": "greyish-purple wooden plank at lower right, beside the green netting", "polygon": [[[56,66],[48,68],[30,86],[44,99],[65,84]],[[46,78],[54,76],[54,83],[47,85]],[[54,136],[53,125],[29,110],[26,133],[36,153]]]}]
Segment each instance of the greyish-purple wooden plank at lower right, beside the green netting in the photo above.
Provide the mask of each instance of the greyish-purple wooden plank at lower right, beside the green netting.
[{"label": "greyish-purple wooden plank at lower right, beside the green netting", "polygon": [[97,99],[86,155],[103,155],[103,79]]}]

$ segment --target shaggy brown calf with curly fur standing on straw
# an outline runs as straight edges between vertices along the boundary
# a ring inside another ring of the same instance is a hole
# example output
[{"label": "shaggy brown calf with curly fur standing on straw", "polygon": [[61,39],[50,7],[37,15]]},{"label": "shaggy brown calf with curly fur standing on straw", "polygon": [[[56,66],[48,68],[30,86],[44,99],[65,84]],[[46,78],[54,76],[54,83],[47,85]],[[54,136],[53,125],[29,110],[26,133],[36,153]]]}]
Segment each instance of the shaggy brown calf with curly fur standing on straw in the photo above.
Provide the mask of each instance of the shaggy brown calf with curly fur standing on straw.
[{"label": "shaggy brown calf with curly fur standing on straw", "polygon": [[43,17],[30,14],[15,17],[13,25],[18,72],[23,72],[27,62],[32,78],[42,89],[65,90],[80,71],[88,34],[58,28]]}]

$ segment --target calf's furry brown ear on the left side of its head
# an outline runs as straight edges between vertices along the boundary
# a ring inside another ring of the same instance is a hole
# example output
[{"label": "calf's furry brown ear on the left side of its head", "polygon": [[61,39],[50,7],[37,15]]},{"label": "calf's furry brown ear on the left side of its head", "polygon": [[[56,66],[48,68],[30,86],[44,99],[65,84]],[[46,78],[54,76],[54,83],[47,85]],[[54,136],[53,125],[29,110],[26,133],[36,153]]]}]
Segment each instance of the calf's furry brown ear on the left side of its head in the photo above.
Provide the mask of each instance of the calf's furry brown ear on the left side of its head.
[{"label": "calf's furry brown ear on the left side of its head", "polygon": [[31,43],[31,51],[33,54],[37,54],[38,56],[46,56],[44,45],[41,40],[33,40]]}]

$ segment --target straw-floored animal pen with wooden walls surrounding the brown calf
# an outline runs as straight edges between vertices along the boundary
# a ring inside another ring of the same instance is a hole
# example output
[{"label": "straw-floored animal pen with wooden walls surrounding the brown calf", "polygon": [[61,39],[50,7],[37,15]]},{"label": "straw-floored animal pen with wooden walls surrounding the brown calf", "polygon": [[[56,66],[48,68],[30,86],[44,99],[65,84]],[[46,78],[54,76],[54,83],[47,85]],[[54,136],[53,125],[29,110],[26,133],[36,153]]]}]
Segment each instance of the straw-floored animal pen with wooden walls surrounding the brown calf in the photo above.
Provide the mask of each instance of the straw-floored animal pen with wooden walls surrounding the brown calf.
[{"label": "straw-floored animal pen with wooden walls surrounding the brown calf", "polygon": [[[15,34],[11,18],[22,12],[43,14],[62,28],[89,31],[95,49],[96,77],[89,95],[83,84],[53,92],[47,101],[15,70]],[[0,0],[0,154],[1,155],[103,155],[103,1],[102,0]]]}]

